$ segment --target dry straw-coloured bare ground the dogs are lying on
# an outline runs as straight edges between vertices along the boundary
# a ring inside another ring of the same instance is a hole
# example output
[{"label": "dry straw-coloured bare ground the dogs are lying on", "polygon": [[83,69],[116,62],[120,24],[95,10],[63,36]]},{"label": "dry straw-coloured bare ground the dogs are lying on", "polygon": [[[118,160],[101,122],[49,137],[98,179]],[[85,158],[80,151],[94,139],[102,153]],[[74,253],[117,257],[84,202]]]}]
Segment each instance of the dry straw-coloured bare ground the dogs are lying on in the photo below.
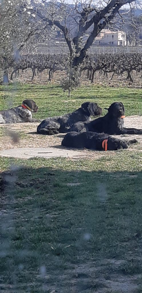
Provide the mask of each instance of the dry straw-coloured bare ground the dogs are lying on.
[{"label": "dry straw-coloured bare ground the dogs are lying on", "polygon": [[[55,146],[61,146],[61,141],[64,137],[64,134],[56,134],[51,136],[45,136],[45,135],[38,135],[36,133],[37,125],[39,123],[17,123],[17,124],[11,124],[11,125],[0,125],[0,130],[2,130],[2,133],[4,134],[1,137],[0,140],[0,150],[5,149],[18,149],[18,148],[31,148],[31,147],[55,147]],[[125,127],[136,127],[136,128],[142,128],[142,116],[129,116],[125,118],[124,121]],[[5,130],[9,129],[12,132],[16,132],[18,134],[22,133],[19,137],[18,143],[13,143],[13,140],[11,137],[7,136],[5,134]],[[118,138],[118,136],[116,136]],[[134,139],[136,138],[138,140],[138,144],[131,145],[128,150],[125,151],[141,151],[142,150],[142,135],[120,135],[120,139]],[[84,158],[100,158],[102,156],[108,156],[108,154],[111,154],[112,156],[115,156],[117,152],[115,151],[90,151],[90,150],[80,150],[80,152],[83,153]],[[76,158],[76,157],[75,157]]]}]

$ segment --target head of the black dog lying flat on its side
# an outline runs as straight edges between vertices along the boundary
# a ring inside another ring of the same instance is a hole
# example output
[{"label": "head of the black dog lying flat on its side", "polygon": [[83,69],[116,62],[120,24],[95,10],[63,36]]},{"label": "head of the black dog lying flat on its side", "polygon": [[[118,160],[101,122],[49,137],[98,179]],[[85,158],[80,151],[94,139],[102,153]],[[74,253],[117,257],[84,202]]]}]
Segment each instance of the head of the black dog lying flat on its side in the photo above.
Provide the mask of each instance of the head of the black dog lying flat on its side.
[{"label": "head of the black dog lying flat on its side", "polygon": [[117,149],[128,149],[128,142],[126,140],[109,137],[107,142],[107,149],[109,151],[116,151]]}]

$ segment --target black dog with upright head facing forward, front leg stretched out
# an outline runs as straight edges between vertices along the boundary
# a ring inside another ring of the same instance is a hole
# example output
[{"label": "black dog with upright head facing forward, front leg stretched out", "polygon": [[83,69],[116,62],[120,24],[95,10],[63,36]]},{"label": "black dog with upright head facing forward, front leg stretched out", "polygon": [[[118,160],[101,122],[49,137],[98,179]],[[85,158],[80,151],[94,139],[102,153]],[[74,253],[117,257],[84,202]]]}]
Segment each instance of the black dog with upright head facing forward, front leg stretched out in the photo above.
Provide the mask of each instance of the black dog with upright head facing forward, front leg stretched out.
[{"label": "black dog with upright head facing forward, front leg stretched out", "polygon": [[107,109],[104,117],[97,118],[89,123],[77,122],[70,131],[93,131],[108,134],[142,134],[142,129],[124,128],[124,106],[122,103],[113,103]]}]

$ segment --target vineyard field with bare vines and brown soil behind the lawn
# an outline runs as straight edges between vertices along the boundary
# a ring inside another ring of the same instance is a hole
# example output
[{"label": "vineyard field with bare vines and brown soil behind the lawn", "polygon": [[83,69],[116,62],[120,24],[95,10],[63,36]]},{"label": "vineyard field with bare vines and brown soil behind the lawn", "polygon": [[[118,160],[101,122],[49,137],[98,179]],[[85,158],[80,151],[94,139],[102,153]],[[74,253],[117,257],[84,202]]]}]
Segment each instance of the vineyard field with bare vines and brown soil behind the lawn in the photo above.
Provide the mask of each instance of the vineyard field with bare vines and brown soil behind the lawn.
[{"label": "vineyard field with bare vines and brown soil behind the lawn", "polygon": [[[114,48],[112,48],[114,49]],[[64,88],[68,80],[69,55],[67,54],[21,54],[18,60],[8,61],[10,81],[47,84],[52,81]],[[79,74],[79,83],[110,87],[142,87],[142,54],[119,52],[89,54]],[[0,78],[3,80],[4,61],[0,60]],[[3,69],[2,69],[3,68]],[[7,78],[8,78],[7,76]]]}]

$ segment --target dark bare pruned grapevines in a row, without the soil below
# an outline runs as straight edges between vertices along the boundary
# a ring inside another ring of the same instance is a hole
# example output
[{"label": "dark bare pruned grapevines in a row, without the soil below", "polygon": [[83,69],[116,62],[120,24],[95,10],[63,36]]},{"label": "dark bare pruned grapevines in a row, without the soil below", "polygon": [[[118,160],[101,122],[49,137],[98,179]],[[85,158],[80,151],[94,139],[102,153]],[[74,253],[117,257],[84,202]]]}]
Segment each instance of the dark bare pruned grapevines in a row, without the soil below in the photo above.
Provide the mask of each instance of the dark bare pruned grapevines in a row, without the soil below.
[{"label": "dark bare pruned grapevines in a row, without the soil below", "polygon": [[[37,72],[42,72],[45,69],[49,71],[49,81],[53,77],[53,73],[57,70],[67,71],[69,69],[70,60],[66,54],[28,54],[21,55],[17,61],[11,59],[0,59],[0,67],[3,70],[12,69],[11,80],[13,74],[21,69],[32,70],[32,79]],[[142,54],[141,53],[119,53],[119,54],[90,54],[81,64],[80,71],[88,71],[88,78],[93,82],[94,74],[96,71],[103,71],[107,76],[107,73],[112,72],[112,78],[114,74],[122,75],[127,72],[131,82],[134,82],[133,70],[136,72],[142,71]]]}]

